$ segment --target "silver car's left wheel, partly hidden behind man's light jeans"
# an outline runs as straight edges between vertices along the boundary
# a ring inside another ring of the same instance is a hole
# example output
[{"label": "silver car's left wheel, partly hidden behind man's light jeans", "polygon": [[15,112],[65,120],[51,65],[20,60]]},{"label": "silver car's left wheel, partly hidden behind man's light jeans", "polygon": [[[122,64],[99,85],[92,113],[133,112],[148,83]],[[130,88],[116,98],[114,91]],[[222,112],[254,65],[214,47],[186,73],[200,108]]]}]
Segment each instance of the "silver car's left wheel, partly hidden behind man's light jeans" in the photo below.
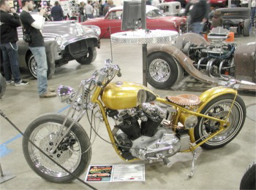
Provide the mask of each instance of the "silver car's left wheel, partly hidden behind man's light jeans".
[{"label": "silver car's left wheel, partly hidden behind man's light jeans", "polygon": [[[37,79],[37,61],[35,60],[33,54],[30,54],[27,58],[27,66],[29,68],[30,74],[34,77],[34,79]],[[47,78],[50,79],[53,76],[55,69],[50,66],[49,61],[47,61],[47,66]]]}]

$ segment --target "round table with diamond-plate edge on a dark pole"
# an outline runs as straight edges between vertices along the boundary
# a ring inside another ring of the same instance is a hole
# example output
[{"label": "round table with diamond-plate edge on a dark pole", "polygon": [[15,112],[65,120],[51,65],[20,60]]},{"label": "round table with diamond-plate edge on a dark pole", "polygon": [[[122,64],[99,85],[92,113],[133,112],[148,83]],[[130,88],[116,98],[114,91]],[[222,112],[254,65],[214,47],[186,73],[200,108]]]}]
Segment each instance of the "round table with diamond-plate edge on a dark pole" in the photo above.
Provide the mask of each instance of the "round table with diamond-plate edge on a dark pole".
[{"label": "round table with diamond-plate edge on a dark pole", "polygon": [[174,42],[174,39],[178,36],[176,31],[164,31],[164,30],[137,30],[126,31],[111,34],[111,42],[118,44],[140,44],[142,45],[143,52],[143,85],[147,86],[147,45],[148,44],[162,44],[170,41]]}]

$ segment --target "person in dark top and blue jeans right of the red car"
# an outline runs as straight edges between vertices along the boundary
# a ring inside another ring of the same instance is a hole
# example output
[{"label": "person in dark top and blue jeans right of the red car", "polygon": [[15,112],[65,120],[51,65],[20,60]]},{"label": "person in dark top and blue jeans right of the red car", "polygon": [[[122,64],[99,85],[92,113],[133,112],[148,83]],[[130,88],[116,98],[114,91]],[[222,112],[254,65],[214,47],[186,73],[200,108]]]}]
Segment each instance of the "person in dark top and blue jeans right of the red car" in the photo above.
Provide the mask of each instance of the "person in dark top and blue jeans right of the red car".
[{"label": "person in dark top and blue jeans right of the red car", "polygon": [[184,15],[189,13],[192,32],[200,34],[208,19],[209,5],[207,0],[191,0],[185,7]]}]

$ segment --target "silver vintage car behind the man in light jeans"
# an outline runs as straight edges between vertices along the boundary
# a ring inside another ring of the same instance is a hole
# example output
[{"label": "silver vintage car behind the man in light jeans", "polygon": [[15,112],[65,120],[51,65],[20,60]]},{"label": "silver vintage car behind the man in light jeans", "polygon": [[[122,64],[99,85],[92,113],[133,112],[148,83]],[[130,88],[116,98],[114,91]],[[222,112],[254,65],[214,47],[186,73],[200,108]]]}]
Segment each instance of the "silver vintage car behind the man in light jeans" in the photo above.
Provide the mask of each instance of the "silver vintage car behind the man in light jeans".
[{"label": "silver vintage car behind the man in light jeans", "polygon": [[[38,12],[31,12],[33,17]],[[94,25],[80,25],[76,21],[45,22],[42,29],[45,50],[48,60],[48,78],[53,76],[56,66],[62,66],[69,60],[80,64],[92,63],[99,48],[100,29]],[[20,67],[27,67],[34,78],[37,78],[37,62],[29,50],[28,43],[23,41],[22,28],[18,28],[18,59]],[[2,61],[2,60],[1,60]]]}]

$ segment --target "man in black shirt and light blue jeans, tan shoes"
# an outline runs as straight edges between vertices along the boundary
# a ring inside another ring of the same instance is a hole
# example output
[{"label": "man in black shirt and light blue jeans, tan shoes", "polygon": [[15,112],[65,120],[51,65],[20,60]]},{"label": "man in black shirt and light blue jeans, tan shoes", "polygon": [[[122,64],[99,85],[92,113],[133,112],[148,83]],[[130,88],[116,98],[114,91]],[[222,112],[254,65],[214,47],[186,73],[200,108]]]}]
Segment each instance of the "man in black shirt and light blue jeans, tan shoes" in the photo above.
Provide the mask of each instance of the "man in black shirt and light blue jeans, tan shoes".
[{"label": "man in black shirt and light blue jeans, tan shoes", "polygon": [[41,9],[39,12],[38,20],[34,20],[29,14],[29,11],[34,9],[34,1],[23,0],[22,1],[22,12],[20,13],[20,20],[23,24],[24,29],[29,33],[31,41],[29,42],[29,50],[34,55],[37,61],[37,89],[40,98],[50,98],[56,96],[53,89],[47,90],[47,58],[45,54],[45,41],[42,37],[42,27],[45,23],[45,9]]}]

